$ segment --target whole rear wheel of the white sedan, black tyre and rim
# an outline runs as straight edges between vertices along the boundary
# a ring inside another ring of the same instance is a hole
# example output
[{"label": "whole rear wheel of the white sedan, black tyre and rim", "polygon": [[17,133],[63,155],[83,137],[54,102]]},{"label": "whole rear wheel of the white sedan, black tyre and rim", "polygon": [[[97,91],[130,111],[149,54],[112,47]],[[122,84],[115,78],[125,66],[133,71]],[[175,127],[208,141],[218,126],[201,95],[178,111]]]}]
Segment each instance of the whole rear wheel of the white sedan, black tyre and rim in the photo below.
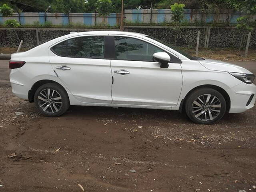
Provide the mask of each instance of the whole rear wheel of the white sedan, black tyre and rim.
[{"label": "whole rear wheel of the white sedan, black tyre and rim", "polygon": [[50,117],[62,115],[70,106],[66,90],[54,83],[40,86],[35,92],[34,101],[39,112]]}]

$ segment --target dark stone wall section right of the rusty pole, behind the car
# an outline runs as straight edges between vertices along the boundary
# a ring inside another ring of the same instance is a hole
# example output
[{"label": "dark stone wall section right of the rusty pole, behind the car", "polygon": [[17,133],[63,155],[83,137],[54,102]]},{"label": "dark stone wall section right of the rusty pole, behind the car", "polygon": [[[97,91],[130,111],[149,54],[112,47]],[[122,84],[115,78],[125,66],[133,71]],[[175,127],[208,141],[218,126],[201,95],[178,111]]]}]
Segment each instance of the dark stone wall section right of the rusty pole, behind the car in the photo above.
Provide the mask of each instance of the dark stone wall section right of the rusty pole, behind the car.
[{"label": "dark stone wall section right of the rusty pole, behind the car", "polygon": [[[126,28],[126,31],[147,34],[149,36],[153,36],[155,38],[168,42],[174,46],[180,47],[196,46],[196,37],[198,30],[200,30],[200,46],[207,46],[209,48],[239,48],[241,42],[241,47],[245,48],[249,32],[247,30],[241,30],[237,28],[212,27],[163,28],[158,26],[130,26]],[[208,30],[210,30],[210,36],[208,36]],[[256,48],[256,29],[252,31],[249,45],[250,48]]]}]

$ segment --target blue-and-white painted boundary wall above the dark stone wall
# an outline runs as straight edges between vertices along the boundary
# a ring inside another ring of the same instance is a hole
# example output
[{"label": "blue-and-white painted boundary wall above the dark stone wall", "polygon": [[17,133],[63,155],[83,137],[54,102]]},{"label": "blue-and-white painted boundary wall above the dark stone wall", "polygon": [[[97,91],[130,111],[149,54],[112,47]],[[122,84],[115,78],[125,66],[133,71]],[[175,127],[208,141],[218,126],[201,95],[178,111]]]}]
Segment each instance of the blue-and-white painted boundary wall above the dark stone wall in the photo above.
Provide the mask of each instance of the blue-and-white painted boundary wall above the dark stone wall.
[{"label": "blue-and-white painted boundary wall above the dark stone wall", "polygon": [[[144,9],[144,10],[125,10],[124,20],[131,23],[163,23],[171,22],[172,11],[170,9]],[[210,13],[205,14],[200,10],[185,9],[184,19],[186,22],[228,22],[231,24],[237,23],[236,19],[240,16],[245,16],[240,12],[230,13]],[[10,17],[3,17],[0,14],[0,24],[8,19],[15,19],[20,24],[44,24],[46,21],[52,25],[109,25],[116,26],[120,24],[120,13],[111,13],[109,16],[103,17],[96,13],[13,13]],[[255,21],[256,15],[251,15],[249,20]]]}]

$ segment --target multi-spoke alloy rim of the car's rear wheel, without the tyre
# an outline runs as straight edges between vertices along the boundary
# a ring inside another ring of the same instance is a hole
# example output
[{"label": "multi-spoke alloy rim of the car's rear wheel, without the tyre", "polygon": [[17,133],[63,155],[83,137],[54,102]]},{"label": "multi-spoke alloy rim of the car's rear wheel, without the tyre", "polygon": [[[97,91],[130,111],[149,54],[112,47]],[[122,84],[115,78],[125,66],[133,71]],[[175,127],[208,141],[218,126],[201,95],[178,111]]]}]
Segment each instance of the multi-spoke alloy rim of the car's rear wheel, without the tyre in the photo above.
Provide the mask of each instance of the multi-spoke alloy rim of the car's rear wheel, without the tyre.
[{"label": "multi-spoke alloy rim of the car's rear wheel, without the tyre", "polygon": [[60,110],[62,98],[54,89],[44,89],[38,95],[38,105],[46,113],[53,114]]}]

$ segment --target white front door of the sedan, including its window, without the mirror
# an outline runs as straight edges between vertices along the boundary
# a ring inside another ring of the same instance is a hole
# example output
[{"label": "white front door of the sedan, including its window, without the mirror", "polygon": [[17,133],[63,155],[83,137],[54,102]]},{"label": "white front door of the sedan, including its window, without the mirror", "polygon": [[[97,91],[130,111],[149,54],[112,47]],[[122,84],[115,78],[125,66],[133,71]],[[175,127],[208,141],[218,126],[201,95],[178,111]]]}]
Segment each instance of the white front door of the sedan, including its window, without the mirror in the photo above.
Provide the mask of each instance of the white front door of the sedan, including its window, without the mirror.
[{"label": "white front door of the sedan, including its window, without the mirror", "polygon": [[111,59],[114,104],[176,106],[182,88],[179,63],[160,68],[154,62],[161,48],[140,39],[114,36],[116,58]]}]

